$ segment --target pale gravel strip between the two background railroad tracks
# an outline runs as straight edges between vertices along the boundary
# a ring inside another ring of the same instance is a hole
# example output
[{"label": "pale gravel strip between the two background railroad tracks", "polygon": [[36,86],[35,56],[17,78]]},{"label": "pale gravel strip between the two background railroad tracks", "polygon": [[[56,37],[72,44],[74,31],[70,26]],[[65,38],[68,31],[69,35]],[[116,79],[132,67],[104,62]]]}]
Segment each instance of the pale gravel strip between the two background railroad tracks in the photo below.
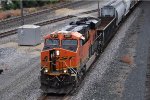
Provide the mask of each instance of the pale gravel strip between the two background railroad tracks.
[{"label": "pale gravel strip between the two background railroad tracks", "polygon": [[[110,0],[112,1],[112,0]],[[102,0],[101,4],[107,3],[108,0]],[[68,3],[68,2],[67,2]],[[54,19],[54,18],[60,18],[62,16],[65,15],[76,15],[79,12],[82,11],[86,11],[88,9],[91,10],[91,8],[96,8],[97,6],[95,6],[97,4],[96,1],[87,1],[87,2],[83,2],[83,1],[78,1],[78,2],[73,2],[73,3],[69,3],[66,6],[63,6],[65,4],[62,5],[62,7],[59,7],[61,9],[57,9],[57,10],[45,10],[45,11],[41,11],[37,14],[33,14],[30,16],[25,16],[24,17],[24,23],[25,24],[35,24],[41,21],[45,21],[45,20],[49,20],[49,19]],[[94,5],[94,6],[93,6]],[[56,7],[58,8],[58,7]],[[86,8],[86,9],[84,9]],[[64,13],[65,12],[65,13]],[[20,18],[18,19],[14,19],[14,20],[7,20],[0,22],[0,33],[8,31],[8,30],[12,30],[12,29],[16,29],[17,27],[21,26],[21,20]]]}]

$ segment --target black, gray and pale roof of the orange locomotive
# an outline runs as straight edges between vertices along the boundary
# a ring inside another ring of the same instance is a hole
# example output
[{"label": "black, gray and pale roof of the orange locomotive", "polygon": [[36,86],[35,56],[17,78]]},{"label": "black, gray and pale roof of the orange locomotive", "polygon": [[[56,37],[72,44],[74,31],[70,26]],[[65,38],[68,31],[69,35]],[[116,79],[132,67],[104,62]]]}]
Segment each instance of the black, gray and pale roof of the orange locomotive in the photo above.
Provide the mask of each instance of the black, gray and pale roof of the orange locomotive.
[{"label": "black, gray and pale roof of the orange locomotive", "polygon": [[[94,17],[84,17],[84,18],[77,18],[76,21],[73,21],[70,23],[70,25],[65,26],[63,29],[59,31],[55,31],[51,34],[72,34],[76,37],[80,37],[84,39],[82,36],[83,34],[86,34],[85,30],[88,30],[90,28],[90,24],[94,23],[95,26],[100,24],[100,19],[94,18]],[[50,34],[44,36],[44,38],[49,38]]]}]

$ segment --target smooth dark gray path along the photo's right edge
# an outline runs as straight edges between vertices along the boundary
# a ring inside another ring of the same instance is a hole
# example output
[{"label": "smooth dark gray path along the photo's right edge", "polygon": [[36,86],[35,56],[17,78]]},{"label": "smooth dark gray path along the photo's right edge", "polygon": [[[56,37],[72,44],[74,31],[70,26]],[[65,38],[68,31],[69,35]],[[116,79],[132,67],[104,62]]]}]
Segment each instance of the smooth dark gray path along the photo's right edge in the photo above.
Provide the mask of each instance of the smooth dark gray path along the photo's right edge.
[{"label": "smooth dark gray path along the photo's right edge", "polygon": [[142,3],[142,14],[136,23],[136,67],[129,74],[125,83],[124,100],[144,100],[145,74],[147,68],[148,48],[150,47],[150,2]]}]

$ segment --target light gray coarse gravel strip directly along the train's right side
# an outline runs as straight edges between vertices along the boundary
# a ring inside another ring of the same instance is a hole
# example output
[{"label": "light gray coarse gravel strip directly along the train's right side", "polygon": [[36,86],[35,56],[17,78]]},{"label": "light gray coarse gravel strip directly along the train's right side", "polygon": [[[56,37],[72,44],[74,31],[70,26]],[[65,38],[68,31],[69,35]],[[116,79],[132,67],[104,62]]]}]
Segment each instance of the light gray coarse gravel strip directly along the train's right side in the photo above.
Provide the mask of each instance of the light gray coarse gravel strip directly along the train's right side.
[{"label": "light gray coarse gravel strip directly along the train's right side", "polygon": [[[123,97],[125,84],[132,70],[136,68],[136,64],[126,64],[121,61],[121,58],[124,55],[130,55],[130,60],[135,59],[137,34],[139,33],[137,22],[141,12],[141,7],[138,7],[121,26],[72,100],[125,99]],[[140,86],[138,87],[140,88]],[[128,98],[127,100],[137,99]]]}]

